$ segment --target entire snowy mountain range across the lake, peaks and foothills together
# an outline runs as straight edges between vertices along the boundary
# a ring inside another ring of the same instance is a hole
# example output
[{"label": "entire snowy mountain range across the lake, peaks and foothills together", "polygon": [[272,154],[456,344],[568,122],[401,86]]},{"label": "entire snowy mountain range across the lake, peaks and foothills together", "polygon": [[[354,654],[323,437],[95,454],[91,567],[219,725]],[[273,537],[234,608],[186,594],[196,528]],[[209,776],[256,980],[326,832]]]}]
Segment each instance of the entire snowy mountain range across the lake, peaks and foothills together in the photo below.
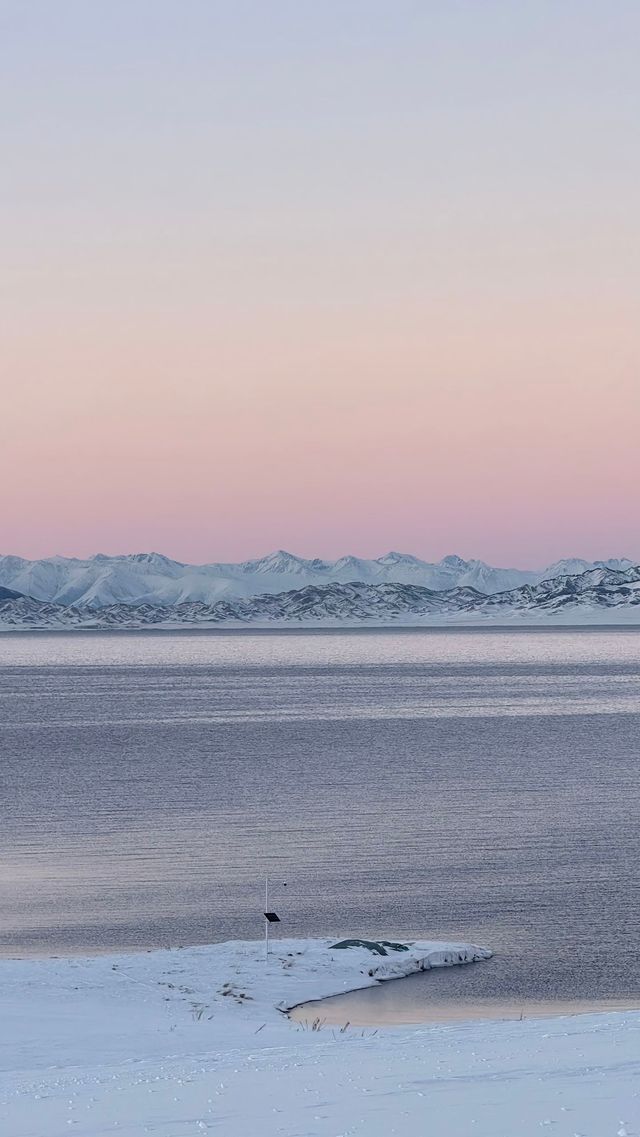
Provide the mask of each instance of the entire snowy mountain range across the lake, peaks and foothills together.
[{"label": "entire snowy mountain range across the lake, peaks and foothills together", "polygon": [[[520,582],[505,587],[514,578]],[[0,630],[479,622],[640,624],[640,565],[571,561],[535,573],[400,554],[324,562],[281,553],[205,566],[159,554],[0,558]]]}]

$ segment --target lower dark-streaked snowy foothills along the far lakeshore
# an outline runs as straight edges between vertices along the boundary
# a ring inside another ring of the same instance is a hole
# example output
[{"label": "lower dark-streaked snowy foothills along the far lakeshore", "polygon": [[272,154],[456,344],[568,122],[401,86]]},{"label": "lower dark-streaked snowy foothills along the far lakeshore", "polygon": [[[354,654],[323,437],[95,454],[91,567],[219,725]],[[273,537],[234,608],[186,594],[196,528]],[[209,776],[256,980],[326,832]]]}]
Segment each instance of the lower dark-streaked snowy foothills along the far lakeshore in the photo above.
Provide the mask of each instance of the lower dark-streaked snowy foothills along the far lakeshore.
[{"label": "lower dark-streaked snowy foothills along the far lakeshore", "polygon": [[349,626],[447,623],[640,623],[640,566],[589,568],[539,584],[483,594],[417,584],[307,584],[282,592],[177,604],[65,606],[0,594],[0,630],[184,626]]}]

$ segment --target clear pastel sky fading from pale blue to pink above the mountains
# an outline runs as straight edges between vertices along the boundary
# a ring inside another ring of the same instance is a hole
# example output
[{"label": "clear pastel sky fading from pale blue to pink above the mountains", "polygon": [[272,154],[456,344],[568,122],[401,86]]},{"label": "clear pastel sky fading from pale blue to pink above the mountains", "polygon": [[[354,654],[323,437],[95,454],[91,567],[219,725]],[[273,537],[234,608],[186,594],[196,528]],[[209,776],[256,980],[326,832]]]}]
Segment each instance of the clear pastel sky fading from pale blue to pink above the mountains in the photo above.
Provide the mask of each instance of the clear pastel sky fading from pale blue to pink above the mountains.
[{"label": "clear pastel sky fading from pale blue to pink above the mountains", "polygon": [[0,0],[0,553],[640,558],[639,38]]}]

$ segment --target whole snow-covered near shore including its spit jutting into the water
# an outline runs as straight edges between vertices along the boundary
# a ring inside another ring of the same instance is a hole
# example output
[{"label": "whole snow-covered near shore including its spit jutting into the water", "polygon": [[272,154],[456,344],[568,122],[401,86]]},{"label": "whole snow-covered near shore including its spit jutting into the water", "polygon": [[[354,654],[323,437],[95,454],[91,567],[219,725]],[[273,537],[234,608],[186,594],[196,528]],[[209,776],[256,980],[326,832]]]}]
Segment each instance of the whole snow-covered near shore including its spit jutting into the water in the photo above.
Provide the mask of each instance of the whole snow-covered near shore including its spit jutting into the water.
[{"label": "whole snow-covered near shore including its spit jutting into the water", "polygon": [[639,1013],[305,1030],[279,1007],[490,954],[330,945],[0,961],[0,1134],[640,1135]]}]

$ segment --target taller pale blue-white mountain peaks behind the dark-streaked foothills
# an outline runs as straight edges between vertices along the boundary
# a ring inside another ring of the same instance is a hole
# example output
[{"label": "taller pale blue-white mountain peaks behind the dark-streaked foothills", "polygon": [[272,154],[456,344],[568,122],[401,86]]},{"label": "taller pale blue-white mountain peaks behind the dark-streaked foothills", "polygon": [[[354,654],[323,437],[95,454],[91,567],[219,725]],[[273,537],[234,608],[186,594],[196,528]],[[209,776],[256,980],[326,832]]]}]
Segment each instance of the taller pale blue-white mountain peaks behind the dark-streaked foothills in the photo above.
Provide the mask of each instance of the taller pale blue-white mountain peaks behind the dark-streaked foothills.
[{"label": "taller pale blue-white mountain peaks behind the dark-streaked foothills", "polygon": [[183,564],[159,553],[98,554],[85,561],[0,556],[0,588],[65,607],[103,608],[114,604],[168,607],[349,583],[413,584],[437,592],[474,588],[493,594],[595,567],[624,571],[632,567],[632,562],[566,561],[540,571],[525,571],[497,568],[483,561],[464,561],[458,556],[432,564],[406,553],[387,553],[368,561],[354,556],[322,561],[280,550],[242,564],[206,565]]}]

